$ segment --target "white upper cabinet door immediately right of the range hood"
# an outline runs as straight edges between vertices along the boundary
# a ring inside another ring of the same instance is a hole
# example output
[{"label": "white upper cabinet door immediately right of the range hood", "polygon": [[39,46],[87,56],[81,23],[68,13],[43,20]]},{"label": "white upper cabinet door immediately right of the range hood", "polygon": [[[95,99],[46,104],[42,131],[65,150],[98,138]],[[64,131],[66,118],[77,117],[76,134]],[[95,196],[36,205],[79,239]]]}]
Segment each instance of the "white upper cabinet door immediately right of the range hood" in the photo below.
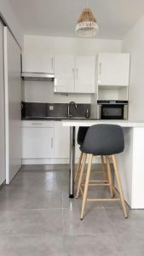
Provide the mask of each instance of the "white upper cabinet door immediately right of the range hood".
[{"label": "white upper cabinet door immediately right of the range hood", "polygon": [[55,55],[55,92],[74,92],[73,55]]}]

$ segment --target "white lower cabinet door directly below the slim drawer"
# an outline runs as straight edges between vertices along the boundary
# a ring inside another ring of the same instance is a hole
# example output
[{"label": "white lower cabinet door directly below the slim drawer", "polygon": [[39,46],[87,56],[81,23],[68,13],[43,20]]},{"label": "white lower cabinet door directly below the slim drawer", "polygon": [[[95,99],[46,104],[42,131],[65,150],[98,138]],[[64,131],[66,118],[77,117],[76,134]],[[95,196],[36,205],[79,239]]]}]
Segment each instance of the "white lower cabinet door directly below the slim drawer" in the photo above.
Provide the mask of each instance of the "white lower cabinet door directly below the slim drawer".
[{"label": "white lower cabinet door directly below the slim drawer", "polygon": [[48,159],[54,157],[54,128],[23,127],[22,158]]}]

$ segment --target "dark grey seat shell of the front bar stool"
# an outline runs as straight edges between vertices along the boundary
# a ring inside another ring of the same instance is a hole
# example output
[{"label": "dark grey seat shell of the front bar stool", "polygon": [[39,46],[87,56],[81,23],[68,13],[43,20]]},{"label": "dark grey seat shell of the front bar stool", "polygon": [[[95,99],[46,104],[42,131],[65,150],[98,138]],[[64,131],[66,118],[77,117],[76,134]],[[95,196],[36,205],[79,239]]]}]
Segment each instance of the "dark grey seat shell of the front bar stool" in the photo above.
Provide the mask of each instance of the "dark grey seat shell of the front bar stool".
[{"label": "dark grey seat shell of the front bar stool", "polygon": [[124,132],[119,125],[92,125],[80,149],[87,154],[109,155],[124,151]]}]

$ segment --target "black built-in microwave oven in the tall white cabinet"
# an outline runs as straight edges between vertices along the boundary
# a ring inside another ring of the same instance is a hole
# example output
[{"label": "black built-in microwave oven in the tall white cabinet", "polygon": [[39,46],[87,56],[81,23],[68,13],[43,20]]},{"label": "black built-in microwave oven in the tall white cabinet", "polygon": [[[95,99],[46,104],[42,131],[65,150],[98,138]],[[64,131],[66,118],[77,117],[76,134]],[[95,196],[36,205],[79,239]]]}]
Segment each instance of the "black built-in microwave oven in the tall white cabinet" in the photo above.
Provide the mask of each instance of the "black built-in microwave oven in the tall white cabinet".
[{"label": "black built-in microwave oven in the tall white cabinet", "polygon": [[128,119],[128,101],[98,101],[98,119]]}]

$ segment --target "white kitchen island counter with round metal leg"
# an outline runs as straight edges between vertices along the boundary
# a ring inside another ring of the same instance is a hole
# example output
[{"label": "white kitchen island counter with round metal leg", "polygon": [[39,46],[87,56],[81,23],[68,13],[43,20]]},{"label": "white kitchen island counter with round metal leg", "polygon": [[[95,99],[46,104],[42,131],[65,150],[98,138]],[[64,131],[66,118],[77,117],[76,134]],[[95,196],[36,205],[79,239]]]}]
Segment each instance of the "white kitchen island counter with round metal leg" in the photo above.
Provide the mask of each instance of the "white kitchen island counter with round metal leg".
[{"label": "white kitchen island counter with round metal leg", "polygon": [[74,196],[75,127],[98,124],[120,125],[124,129],[125,148],[118,154],[118,169],[124,190],[124,199],[132,209],[144,209],[144,122],[128,120],[65,119],[70,127],[70,197]]}]

